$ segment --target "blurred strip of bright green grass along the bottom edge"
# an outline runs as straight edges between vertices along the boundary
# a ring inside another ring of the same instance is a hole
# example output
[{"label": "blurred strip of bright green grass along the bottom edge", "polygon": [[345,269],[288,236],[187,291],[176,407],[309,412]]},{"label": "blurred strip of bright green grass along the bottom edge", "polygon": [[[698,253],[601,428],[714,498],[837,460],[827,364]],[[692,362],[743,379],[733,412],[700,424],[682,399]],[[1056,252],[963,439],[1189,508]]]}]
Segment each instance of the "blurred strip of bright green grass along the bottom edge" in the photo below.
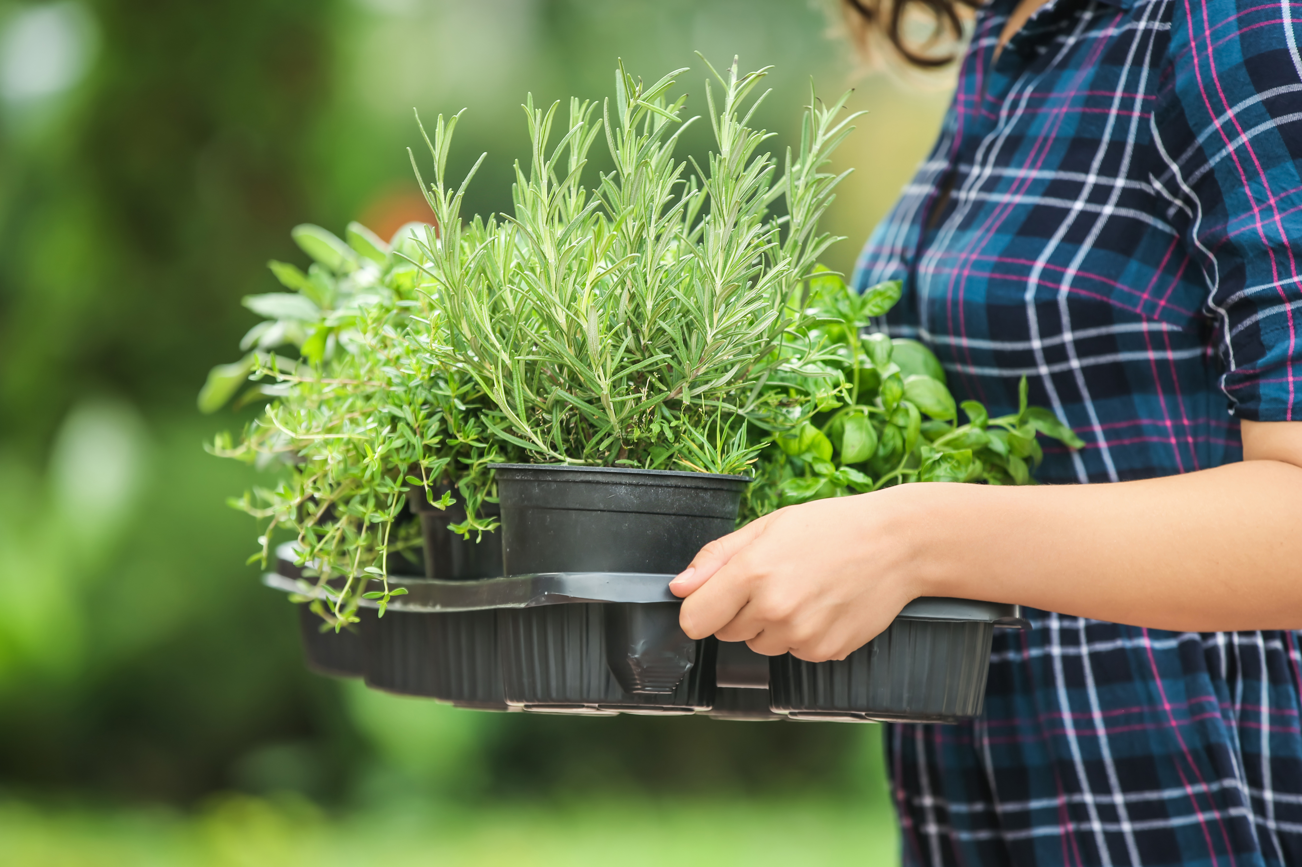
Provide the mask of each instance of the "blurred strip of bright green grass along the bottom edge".
[{"label": "blurred strip of bright green grass along the bottom edge", "polygon": [[224,796],[193,814],[0,802],[14,867],[358,867],[384,864],[896,864],[884,805],[639,801],[409,806],[327,816],[294,798]]}]

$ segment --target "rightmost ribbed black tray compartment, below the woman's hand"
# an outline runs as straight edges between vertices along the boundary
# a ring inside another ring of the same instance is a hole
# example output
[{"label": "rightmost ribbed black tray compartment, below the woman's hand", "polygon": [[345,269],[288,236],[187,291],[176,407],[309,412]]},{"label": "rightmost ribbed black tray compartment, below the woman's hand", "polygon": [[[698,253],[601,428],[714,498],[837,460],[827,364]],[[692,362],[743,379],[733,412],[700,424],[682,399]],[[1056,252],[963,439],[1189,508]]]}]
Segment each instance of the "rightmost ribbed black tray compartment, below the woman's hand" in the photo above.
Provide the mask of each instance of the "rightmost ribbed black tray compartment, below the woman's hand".
[{"label": "rightmost ribbed black tray compartment, below the woman's hand", "polygon": [[990,620],[901,616],[840,662],[771,658],[775,711],[799,720],[958,723],[986,701]]}]

